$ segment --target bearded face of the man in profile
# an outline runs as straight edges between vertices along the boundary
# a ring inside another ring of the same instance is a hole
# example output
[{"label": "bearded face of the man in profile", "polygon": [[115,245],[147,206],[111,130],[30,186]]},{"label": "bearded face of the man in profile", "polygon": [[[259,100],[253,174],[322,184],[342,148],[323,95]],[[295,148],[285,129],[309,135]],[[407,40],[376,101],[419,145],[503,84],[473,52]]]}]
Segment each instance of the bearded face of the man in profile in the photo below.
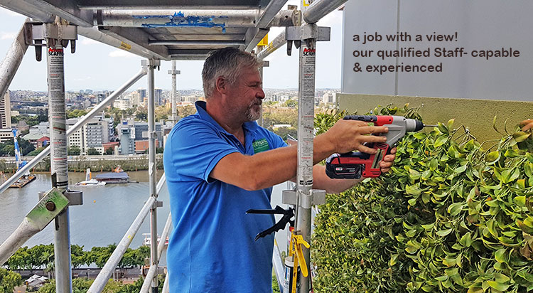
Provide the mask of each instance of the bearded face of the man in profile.
[{"label": "bearded face of the man in profile", "polygon": [[235,85],[230,85],[232,111],[244,121],[254,121],[261,117],[261,104],[264,99],[261,75],[257,68],[244,68]]}]

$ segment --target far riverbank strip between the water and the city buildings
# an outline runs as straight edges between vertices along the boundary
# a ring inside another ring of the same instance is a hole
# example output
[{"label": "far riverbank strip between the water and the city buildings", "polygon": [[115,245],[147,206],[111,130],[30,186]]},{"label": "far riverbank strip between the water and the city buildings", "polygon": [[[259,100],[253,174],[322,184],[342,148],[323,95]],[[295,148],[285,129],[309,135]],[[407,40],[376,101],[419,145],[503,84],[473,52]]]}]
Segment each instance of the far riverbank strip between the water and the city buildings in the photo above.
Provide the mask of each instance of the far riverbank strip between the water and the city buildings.
[{"label": "far riverbank strip between the water and the city buildings", "polygon": [[[25,156],[24,161],[31,161],[33,156]],[[163,169],[163,154],[156,154],[156,167]],[[80,172],[90,168],[91,171],[113,171],[120,166],[124,171],[148,170],[148,155],[95,155],[95,156],[68,156],[68,171]],[[6,156],[0,159],[0,171],[6,174],[14,174],[16,163],[14,156]],[[49,172],[50,156],[39,162],[33,172]]]}]

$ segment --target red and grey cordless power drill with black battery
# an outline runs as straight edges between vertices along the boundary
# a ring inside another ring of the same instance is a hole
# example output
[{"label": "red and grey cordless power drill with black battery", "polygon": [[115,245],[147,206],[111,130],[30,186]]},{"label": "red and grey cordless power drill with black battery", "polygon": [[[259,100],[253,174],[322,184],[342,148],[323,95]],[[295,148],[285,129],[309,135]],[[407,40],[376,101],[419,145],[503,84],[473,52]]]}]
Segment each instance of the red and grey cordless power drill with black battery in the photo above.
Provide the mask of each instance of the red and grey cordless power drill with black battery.
[{"label": "red and grey cordless power drill with black battery", "polygon": [[346,154],[332,154],[325,159],[325,174],[332,179],[359,179],[363,177],[377,177],[381,175],[379,162],[390,153],[390,149],[399,139],[405,136],[406,132],[418,132],[424,127],[435,125],[424,125],[416,119],[408,119],[402,116],[371,116],[371,115],[348,115],[345,120],[360,120],[373,122],[374,126],[386,125],[389,132],[384,135],[387,142],[369,143],[366,146],[377,149],[376,154],[366,154],[360,151],[350,151]]}]

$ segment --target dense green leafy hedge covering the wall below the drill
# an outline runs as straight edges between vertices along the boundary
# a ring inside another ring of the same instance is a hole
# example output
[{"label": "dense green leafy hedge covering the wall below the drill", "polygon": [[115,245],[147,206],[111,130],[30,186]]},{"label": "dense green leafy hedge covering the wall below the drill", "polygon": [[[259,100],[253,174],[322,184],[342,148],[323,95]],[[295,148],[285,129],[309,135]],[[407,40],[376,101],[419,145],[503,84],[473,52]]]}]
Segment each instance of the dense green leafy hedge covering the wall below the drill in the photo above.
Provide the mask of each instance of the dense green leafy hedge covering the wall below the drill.
[{"label": "dense green leafy hedge covering the wall below the drill", "polygon": [[326,197],[316,292],[533,290],[533,154],[518,145],[533,136],[480,144],[452,125],[407,134],[392,171]]}]

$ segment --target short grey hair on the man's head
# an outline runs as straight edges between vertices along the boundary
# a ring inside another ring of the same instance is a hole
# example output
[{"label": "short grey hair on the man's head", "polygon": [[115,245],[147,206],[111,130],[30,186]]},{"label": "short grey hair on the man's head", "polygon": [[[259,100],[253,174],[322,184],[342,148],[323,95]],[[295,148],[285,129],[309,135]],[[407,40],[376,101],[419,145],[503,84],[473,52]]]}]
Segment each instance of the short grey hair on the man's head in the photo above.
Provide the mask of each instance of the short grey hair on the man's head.
[{"label": "short grey hair on the man's head", "polygon": [[202,70],[205,99],[212,96],[220,76],[234,85],[242,68],[259,68],[261,64],[254,55],[237,48],[227,47],[211,51]]}]

